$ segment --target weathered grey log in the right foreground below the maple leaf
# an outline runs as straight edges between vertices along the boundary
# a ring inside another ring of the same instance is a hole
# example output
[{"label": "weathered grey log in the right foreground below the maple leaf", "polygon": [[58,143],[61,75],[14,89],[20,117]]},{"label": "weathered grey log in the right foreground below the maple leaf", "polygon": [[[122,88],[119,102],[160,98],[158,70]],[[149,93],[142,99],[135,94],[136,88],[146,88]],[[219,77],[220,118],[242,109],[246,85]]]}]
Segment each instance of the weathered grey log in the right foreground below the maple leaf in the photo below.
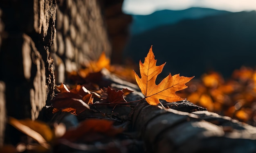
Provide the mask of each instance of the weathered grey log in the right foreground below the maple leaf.
[{"label": "weathered grey log in the right foreground below the maple leaf", "polygon": [[133,110],[133,127],[148,152],[256,152],[256,127],[189,101],[163,104],[169,109],[143,102]]}]

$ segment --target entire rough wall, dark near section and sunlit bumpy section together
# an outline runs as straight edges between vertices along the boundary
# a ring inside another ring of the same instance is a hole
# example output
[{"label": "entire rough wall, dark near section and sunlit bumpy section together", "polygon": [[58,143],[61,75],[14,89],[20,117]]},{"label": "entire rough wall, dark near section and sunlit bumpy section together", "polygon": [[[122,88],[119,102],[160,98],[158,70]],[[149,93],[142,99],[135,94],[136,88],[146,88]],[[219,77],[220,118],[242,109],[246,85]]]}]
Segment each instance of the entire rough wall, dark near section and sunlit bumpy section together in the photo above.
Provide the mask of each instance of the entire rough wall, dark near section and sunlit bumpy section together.
[{"label": "entire rough wall, dark near section and sunlit bumpy section together", "polygon": [[121,10],[122,0],[0,1],[0,147],[19,142],[7,116],[36,119],[54,97],[55,78],[65,82],[66,71],[103,51],[110,57],[113,2]]}]

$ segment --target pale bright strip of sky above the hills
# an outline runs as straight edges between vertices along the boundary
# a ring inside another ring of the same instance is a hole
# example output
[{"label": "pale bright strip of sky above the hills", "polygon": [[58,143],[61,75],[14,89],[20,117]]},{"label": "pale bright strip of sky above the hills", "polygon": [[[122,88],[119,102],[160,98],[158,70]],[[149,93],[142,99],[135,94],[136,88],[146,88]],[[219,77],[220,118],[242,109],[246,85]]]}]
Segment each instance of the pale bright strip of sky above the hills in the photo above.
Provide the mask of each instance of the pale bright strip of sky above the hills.
[{"label": "pale bright strip of sky above the hills", "polygon": [[155,11],[184,10],[202,7],[230,12],[256,10],[256,0],[124,0],[123,11],[132,15],[148,15]]}]

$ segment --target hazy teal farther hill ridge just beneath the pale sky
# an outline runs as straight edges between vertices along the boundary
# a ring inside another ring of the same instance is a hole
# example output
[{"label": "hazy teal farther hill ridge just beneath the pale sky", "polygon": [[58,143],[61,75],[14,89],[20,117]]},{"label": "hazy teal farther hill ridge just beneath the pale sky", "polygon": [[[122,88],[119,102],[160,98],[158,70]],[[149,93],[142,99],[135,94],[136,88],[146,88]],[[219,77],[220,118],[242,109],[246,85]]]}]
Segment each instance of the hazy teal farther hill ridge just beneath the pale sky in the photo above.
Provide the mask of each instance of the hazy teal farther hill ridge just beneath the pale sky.
[{"label": "hazy teal farther hill ridge just beneath the pale sky", "polygon": [[174,24],[184,19],[198,19],[209,15],[225,13],[230,12],[206,8],[189,8],[181,11],[156,11],[150,15],[132,15],[133,22],[130,31],[132,35],[137,35],[157,26]]}]

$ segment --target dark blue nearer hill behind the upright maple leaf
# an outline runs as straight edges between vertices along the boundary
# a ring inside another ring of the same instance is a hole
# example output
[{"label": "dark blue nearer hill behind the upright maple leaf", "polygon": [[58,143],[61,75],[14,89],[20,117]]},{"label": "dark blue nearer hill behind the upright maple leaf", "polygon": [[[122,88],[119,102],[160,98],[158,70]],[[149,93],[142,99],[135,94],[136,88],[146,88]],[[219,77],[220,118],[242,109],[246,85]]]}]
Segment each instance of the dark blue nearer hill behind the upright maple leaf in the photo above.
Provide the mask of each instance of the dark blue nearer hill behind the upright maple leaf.
[{"label": "dark blue nearer hill behind the upright maple leaf", "polygon": [[207,70],[229,77],[240,66],[256,66],[256,12],[224,13],[159,26],[130,37],[124,57],[136,63],[150,46],[164,75],[200,77]]}]

